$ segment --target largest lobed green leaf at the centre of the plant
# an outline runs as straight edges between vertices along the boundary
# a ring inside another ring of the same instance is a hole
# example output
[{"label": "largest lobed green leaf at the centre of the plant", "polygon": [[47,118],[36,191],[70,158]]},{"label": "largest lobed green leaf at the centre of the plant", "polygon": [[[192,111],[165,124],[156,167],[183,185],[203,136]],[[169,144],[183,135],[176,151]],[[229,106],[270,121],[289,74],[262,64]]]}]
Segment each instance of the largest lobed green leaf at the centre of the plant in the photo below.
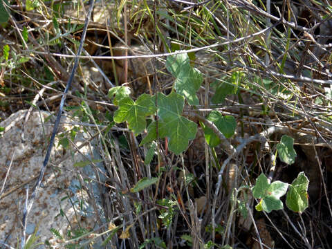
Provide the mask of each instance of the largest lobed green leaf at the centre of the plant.
[{"label": "largest lobed green leaf at the centre of the plant", "polygon": [[[167,96],[158,93],[158,135],[169,138],[169,150],[176,155],[187,149],[189,140],[194,139],[197,132],[197,124],[181,116],[184,104],[183,96],[178,93]],[[156,127],[156,122],[151,122],[141,145],[157,138]]]}]

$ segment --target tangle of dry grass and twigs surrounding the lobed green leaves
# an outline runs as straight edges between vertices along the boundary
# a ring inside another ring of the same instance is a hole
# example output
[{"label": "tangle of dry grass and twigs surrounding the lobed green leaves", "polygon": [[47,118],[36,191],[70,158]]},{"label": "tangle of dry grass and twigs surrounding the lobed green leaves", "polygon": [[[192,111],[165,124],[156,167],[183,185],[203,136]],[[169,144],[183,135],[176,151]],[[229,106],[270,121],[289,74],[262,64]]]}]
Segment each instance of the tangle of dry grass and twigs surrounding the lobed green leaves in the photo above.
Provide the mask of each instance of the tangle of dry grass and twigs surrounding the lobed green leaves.
[{"label": "tangle of dry grass and twigs surrounding the lobed green leaves", "polygon": [[[1,118],[30,108],[30,103],[57,111],[70,77],[89,3],[84,2],[86,11],[79,9],[82,3],[71,1],[38,4],[26,11],[21,1],[10,1],[8,24],[0,28],[1,47],[10,47],[8,62],[1,62]],[[83,234],[89,239],[81,243],[88,246],[102,237],[107,248],[139,248],[143,243],[147,248],[203,248],[208,241],[215,248],[330,248],[331,3],[174,0],[95,5],[66,105],[86,104],[80,125],[100,135],[109,188],[104,210],[96,214],[98,227]],[[198,135],[180,156],[160,140],[154,160],[145,165],[149,148],[138,147],[141,136],[120,124],[124,131],[98,129],[111,124],[107,117],[116,110],[107,90],[125,83],[133,98],[169,93],[173,79],[165,58],[175,49],[188,50],[205,78],[201,105],[185,107],[186,115],[209,125],[204,116],[216,109],[236,118],[237,132],[214,149]],[[104,80],[84,77],[91,66]],[[237,84],[239,91],[212,104],[221,83]],[[275,158],[283,134],[295,139],[294,165]],[[301,215],[286,209],[256,212],[256,201],[239,190],[252,186],[261,172],[270,180],[291,183],[301,171],[311,181],[310,205]],[[129,192],[143,177],[158,177],[158,184]],[[246,203],[247,218],[239,203]],[[130,239],[124,239],[128,232]]]}]

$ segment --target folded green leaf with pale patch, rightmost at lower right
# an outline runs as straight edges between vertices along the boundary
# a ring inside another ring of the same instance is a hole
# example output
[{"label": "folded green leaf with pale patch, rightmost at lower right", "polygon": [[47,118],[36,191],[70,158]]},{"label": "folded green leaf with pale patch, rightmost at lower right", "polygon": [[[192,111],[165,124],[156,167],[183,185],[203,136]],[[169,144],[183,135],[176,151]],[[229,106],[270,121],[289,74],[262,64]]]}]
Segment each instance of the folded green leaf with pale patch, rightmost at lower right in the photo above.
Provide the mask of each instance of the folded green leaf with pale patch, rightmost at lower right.
[{"label": "folded green leaf with pale patch, rightmost at lower right", "polygon": [[309,180],[304,172],[299,173],[293,183],[289,185],[286,205],[290,210],[301,214],[308,208],[308,185]]}]

